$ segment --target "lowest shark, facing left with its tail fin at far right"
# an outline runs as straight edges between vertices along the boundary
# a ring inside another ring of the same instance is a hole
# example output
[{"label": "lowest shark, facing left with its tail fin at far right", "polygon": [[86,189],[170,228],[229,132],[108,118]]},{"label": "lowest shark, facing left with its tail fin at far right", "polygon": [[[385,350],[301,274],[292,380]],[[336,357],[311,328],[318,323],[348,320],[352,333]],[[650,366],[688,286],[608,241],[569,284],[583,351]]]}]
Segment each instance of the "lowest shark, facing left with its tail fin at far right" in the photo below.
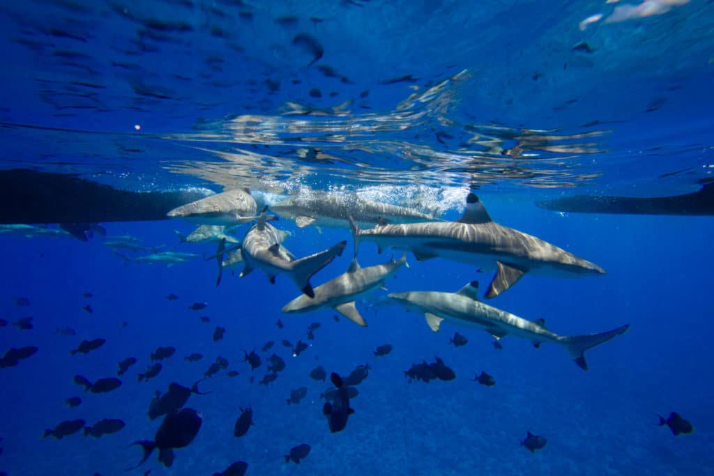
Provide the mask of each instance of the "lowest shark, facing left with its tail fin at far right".
[{"label": "lowest shark, facing left with its tail fin at far right", "polygon": [[540,346],[540,343],[553,342],[565,348],[583,370],[588,370],[585,350],[607,342],[630,328],[629,324],[625,324],[598,334],[558,335],[545,328],[544,319],[526,320],[482,303],[478,300],[478,281],[468,283],[457,293],[411,291],[391,293],[388,297],[409,310],[424,313],[426,323],[434,332],[438,332],[443,320],[448,320],[486,330],[497,340],[506,335],[515,335],[531,340],[535,347]]}]

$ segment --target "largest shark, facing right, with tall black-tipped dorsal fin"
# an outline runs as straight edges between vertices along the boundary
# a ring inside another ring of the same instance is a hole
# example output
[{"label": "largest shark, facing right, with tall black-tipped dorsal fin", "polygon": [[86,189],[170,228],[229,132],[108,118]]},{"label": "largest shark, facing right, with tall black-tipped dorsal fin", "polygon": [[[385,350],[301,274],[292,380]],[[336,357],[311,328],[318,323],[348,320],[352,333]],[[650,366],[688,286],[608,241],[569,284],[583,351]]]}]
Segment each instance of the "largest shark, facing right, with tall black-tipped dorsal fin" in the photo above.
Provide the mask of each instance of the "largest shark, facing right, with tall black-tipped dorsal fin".
[{"label": "largest shark, facing right, with tall black-tipped dorsal fin", "polygon": [[486,298],[494,298],[510,288],[526,273],[575,276],[604,274],[600,266],[578,258],[547,241],[491,220],[474,193],[466,198],[466,211],[458,221],[378,225],[361,230],[351,220],[355,253],[362,241],[383,248],[411,250],[419,261],[444,258],[482,268],[496,265],[496,276]]}]

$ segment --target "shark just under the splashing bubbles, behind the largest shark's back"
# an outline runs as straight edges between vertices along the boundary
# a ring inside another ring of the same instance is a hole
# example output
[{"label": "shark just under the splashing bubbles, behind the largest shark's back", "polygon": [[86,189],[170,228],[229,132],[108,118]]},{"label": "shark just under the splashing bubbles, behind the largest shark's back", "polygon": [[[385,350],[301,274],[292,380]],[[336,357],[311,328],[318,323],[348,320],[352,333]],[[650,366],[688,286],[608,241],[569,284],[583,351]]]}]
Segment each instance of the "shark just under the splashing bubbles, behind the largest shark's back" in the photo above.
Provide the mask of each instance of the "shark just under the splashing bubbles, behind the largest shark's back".
[{"label": "shark just under the splashing bubbles, behind the largest shark's back", "polygon": [[436,212],[422,213],[414,208],[363,200],[356,194],[311,193],[276,203],[271,211],[283,218],[295,221],[298,228],[313,225],[318,230],[328,228],[349,228],[352,217],[360,226],[376,223],[416,223],[438,218]]}]

